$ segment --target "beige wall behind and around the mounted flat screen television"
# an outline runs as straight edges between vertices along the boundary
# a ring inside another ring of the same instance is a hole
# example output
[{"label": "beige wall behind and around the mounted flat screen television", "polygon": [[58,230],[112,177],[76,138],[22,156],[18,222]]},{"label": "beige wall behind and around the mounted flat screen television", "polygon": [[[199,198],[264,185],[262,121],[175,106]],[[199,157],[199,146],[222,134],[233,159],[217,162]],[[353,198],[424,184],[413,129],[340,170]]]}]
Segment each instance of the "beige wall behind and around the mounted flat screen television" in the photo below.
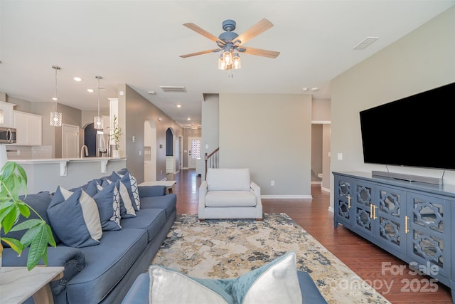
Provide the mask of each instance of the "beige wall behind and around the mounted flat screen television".
[{"label": "beige wall behind and around the mounted flat screen television", "polygon": [[[385,171],[364,164],[360,110],[455,81],[455,7],[338,75],[331,83],[331,171]],[[431,106],[431,105],[429,105]],[[454,139],[451,139],[454,140]],[[337,154],[343,154],[343,160]],[[391,172],[441,177],[442,170],[388,166]],[[455,184],[446,171],[444,183]],[[333,176],[331,176],[333,206]]]}]

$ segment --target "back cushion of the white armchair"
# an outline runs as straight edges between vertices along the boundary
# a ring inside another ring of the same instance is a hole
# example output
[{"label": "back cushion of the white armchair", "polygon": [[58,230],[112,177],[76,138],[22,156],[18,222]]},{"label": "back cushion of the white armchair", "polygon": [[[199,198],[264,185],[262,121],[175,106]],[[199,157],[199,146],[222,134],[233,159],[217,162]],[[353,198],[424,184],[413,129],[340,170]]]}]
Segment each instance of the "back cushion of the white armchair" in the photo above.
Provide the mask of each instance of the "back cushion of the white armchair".
[{"label": "back cushion of the white armchair", "polygon": [[208,191],[250,190],[250,169],[208,168]]}]

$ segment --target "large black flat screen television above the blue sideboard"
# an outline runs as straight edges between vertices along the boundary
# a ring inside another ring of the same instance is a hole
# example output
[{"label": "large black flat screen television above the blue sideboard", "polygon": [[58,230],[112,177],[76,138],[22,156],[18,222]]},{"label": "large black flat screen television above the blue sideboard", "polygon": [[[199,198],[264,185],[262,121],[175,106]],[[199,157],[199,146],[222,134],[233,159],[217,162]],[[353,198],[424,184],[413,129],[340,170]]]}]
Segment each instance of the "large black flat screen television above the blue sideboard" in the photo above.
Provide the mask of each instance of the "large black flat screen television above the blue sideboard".
[{"label": "large black flat screen television above the blue sideboard", "polygon": [[455,83],[360,111],[365,163],[455,170]]}]

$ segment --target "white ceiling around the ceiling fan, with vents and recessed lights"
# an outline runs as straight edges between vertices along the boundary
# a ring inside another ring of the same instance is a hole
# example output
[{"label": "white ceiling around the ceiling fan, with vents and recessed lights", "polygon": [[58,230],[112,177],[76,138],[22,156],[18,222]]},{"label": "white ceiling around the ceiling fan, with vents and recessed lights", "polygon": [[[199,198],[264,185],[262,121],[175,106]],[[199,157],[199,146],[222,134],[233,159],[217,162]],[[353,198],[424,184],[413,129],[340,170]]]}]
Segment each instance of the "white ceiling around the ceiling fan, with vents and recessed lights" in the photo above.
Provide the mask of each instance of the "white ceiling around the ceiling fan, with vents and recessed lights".
[{"label": "white ceiling around the ceiling fan, with vents and recessed lights", "polygon": [[[117,85],[127,83],[179,124],[200,124],[204,93],[304,94],[302,88],[318,87],[314,98],[330,98],[331,79],[454,4],[0,0],[0,92],[52,102],[51,66],[59,65],[59,103],[96,110],[97,92],[87,93],[87,88],[96,89],[95,75],[100,75],[101,108],[109,108],[107,98],[116,98]],[[281,52],[275,59],[241,53],[242,68],[230,78],[217,68],[220,53],[179,57],[217,48],[183,23],[218,36],[225,19],[235,20],[240,34],[263,18],[274,27],[245,46]],[[354,51],[368,36],[379,39]],[[75,82],[75,76],[82,82]],[[160,85],[184,86],[187,92],[164,93]]]}]

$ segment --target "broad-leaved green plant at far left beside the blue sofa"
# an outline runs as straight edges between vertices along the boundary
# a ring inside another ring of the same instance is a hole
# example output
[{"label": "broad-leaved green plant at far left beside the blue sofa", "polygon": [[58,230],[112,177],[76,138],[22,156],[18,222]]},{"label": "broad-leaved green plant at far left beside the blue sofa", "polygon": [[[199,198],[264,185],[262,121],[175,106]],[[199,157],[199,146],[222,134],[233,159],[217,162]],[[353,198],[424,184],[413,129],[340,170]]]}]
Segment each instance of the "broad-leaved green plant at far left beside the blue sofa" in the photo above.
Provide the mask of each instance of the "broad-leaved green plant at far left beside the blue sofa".
[{"label": "broad-leaved green plant at far left beside the blue sofa", "polygon": [[[23,248],[30,246],[27,256],[27,268],[30,271],[43,259],[48,264],[48,243],[55,247],[55,240],[50,226],[44,221],[38,212],[19,198],[19,193],[27,194],[26,171],[16,162],[6,162],[0,172],[0,229],[4,234],[9,231],[27,230],[21,240],[1,236],[1,241],[8,243],[19,256]],[[27,219],[17,224],[22,215],[26,218],[31,211],[38,219]],[[2,232],[2,233],[3,233]],[[0,261],[3,246],[0,242]]]}]

